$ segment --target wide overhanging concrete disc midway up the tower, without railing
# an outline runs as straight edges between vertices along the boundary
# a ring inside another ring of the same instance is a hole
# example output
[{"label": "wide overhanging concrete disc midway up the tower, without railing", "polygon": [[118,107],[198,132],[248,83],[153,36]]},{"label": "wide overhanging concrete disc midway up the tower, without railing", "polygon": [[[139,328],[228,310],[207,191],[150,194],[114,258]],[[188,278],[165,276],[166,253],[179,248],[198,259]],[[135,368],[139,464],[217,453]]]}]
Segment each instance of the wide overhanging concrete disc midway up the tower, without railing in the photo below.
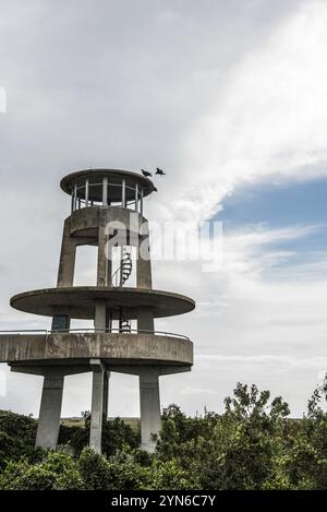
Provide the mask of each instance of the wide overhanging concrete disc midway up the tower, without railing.
[{"label": "wide overhanging concrete disc midway up the tower, without railing", "polygon": [[195,302],[184,295],[147,288],[74,286],[25,291],[11,298],[10,305],[27,313],[52,317],[65,310],[74,319],[92,320],[95,306],[102,301],[119,318],[120,308],[128,308],[131,320],[138,308],[148,308],[154,318],[173,317],[192,311]]}]

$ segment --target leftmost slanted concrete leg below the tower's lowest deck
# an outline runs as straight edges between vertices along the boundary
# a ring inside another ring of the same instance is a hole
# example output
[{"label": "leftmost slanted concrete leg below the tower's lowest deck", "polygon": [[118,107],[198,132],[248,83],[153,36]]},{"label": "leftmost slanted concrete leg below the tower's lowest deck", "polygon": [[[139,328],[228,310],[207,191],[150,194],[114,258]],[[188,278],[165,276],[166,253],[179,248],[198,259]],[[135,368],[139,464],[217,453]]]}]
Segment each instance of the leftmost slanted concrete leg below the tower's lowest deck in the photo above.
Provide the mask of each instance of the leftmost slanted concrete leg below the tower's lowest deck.
[{"label": "leftmost slanted concrete leg below the tower's lowest deck", "polygon": [[45,374],[35,446],[56,450],[63,393],[63,374],[53,369]]}]

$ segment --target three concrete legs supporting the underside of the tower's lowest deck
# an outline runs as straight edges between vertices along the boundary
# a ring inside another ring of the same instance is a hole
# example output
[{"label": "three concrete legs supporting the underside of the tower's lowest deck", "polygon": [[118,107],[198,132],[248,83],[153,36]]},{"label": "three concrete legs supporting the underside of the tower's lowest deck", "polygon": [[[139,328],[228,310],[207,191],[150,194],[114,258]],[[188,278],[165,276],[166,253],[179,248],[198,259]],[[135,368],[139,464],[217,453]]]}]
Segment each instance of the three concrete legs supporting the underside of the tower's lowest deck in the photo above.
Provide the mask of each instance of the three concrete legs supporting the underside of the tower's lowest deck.
[{"label": "three concrete legs supporting the underside of the tower's lowest deck", "polygon": [[89,359],[87,366],[22,366],[12,365],[12,371],[44,376],[43,396],[36,434],[36,446],[56,450],[58,445],[64,377],[93,372],[92,419],[89,446],[101,453],[102,421],[107,419],[108,379],[111,371],[136,374],[140,380],[141,449],[153,453],[153,434],[161,428],[159,376],[191,370],[185,366],[124,365],[109,367],[102,359]]}]

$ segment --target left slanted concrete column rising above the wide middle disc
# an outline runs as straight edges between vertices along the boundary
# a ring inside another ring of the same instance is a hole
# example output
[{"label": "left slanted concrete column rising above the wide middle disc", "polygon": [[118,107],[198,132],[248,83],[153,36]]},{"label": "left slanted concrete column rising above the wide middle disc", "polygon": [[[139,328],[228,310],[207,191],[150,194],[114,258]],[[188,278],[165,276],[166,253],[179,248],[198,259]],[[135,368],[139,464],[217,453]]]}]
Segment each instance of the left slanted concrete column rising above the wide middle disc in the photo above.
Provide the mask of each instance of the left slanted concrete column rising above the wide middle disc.
[{"label": "left slanted concrete column rising above the wide middle disc", "polygon": [[62,288],[64,286],[73,286],[74,281],[76,242],[70,236],[70,223],[71,219],[66,218],[63,226],[61,254],[57,279],[58,288]]}]

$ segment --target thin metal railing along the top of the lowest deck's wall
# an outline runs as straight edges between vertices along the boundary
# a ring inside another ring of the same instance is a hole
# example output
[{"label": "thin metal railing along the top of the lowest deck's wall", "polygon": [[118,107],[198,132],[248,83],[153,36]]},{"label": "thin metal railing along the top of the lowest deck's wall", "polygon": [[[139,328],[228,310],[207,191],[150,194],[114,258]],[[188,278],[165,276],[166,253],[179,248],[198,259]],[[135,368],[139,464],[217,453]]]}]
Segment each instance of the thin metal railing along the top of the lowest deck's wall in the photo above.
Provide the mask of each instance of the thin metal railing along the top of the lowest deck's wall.
[{"label": "thin metal railing along the top of the lowest deck's wall", "polygon": [[83,334],[83,333],[106,333],[106,334],[153,334],[155,336],[167,336],[167,337],[178,337],[181,340],[186,340],[190,341],[190,337],[184,336],[183,334],[177,334],[177,333],[170,333],[166,331],[152,331],[148,329],[131,329],[130,332],[121,332],[120,329],[118,328],[111,328],[111,329],[95,329],[95,328],[89,328],[89,329],[60,329],[56,331],[47,330],[47,329],[23,329],[23,330],[3,330],[0,331],[0,336],[2,334],[45,334],[46,336],[56,334],[56,333],[66,333],[66,334]]}]

